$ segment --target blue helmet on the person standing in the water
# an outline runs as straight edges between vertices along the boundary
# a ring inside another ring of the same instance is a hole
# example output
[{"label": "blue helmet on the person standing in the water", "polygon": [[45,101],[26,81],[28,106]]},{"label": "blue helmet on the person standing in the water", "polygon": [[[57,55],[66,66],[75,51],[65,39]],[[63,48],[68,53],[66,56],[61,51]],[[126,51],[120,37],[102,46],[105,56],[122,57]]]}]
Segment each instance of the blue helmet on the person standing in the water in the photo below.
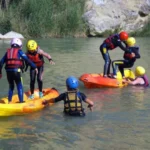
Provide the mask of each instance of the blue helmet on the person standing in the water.
[{"label": "blue helmet on the person standing in the water", "polygon": [[70,76],[66,80],[66,85],[69,89],[76,89],[79,86],[78,79],[74,76]]}]

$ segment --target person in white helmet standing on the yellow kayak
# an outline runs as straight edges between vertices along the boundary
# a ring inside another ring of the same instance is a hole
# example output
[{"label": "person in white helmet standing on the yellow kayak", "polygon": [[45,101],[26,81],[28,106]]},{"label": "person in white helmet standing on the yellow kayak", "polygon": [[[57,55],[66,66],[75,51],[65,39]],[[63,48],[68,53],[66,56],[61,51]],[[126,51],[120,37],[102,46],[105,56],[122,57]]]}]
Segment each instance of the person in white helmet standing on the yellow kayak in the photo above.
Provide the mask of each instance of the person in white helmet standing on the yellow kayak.
[{"label": "person in white helmet standing on the yellow kayak", "polygon": [[33,70],[37,72],[36,65],[30,61],[26,54],[22,51],[22,41],[14,38],[11,40],[11,48],[7,50],[0,61],[0,77],[2,77],[2,67],[5,63],[7,73],[7,80],[9,83],[8,101],[11,102],[14,91],[14,83],[16,83],[18,90],[18,97],[20,103],[23,103],[23,84],[21,77],[21,70],[23,68],[23,60],[28,62]]}]

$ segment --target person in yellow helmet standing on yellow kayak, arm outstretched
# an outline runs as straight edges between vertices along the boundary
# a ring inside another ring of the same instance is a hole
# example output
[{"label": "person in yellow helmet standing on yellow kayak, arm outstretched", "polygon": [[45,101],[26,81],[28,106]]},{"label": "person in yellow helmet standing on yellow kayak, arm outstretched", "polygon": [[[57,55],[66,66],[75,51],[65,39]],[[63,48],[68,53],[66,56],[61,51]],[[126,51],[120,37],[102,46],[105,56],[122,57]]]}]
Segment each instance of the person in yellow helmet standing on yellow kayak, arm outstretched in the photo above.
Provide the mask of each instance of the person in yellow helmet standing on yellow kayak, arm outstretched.
[{"label": "person in yellow helmet standing on yellow kayak, arm outstretched", "polygon": [[[43,71],[44,71],[44,57],[46,57],[50,64],[55,64],[52,60],[51,56],[44,52],[40,47],[38,46],[37,42],[34,40],[29,40],[27,42],[27,56],[28,58],[35,63],[38,69],[37,74],[37,82],[38,82],[38,88],[39,88],[39,97],[43,97]],[[28,64],[26,64],[28,66]],[[27,70],[27,69],[26,69]],[[35,85],[35,78],[36,73],[35,71],[30,68],[30,91],[31,95],[29,96],[30,99],[34,99],[34,85]]]}]

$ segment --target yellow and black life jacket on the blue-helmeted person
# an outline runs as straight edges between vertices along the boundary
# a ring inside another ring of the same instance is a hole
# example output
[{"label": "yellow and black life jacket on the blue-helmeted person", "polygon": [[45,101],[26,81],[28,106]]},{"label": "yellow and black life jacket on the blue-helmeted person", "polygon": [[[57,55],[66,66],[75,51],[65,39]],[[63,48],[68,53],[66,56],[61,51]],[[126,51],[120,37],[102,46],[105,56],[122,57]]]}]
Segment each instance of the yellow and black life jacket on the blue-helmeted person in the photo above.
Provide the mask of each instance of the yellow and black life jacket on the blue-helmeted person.
[{"label": "yellow and black life jacket on the blue-helmeted person", "polygon": [[64,112],[69,115],[83,115],[82,100],[77,91],[66,92],[64,101]]}]

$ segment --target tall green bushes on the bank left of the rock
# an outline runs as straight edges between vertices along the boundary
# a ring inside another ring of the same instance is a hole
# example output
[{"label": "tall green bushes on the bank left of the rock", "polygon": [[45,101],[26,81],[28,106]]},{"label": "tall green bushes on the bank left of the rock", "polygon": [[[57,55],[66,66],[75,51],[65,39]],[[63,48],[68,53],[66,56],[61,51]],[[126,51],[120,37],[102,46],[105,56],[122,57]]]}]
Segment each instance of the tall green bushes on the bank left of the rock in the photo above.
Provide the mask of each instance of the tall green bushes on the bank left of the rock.
[{"label": "tall green bushes on the bank left of the rock", "polygon": [[85,0],[14,0],[5,13],[9,26],[0,22],[0,27],[33,37],[84,33],[84,4]]}]

